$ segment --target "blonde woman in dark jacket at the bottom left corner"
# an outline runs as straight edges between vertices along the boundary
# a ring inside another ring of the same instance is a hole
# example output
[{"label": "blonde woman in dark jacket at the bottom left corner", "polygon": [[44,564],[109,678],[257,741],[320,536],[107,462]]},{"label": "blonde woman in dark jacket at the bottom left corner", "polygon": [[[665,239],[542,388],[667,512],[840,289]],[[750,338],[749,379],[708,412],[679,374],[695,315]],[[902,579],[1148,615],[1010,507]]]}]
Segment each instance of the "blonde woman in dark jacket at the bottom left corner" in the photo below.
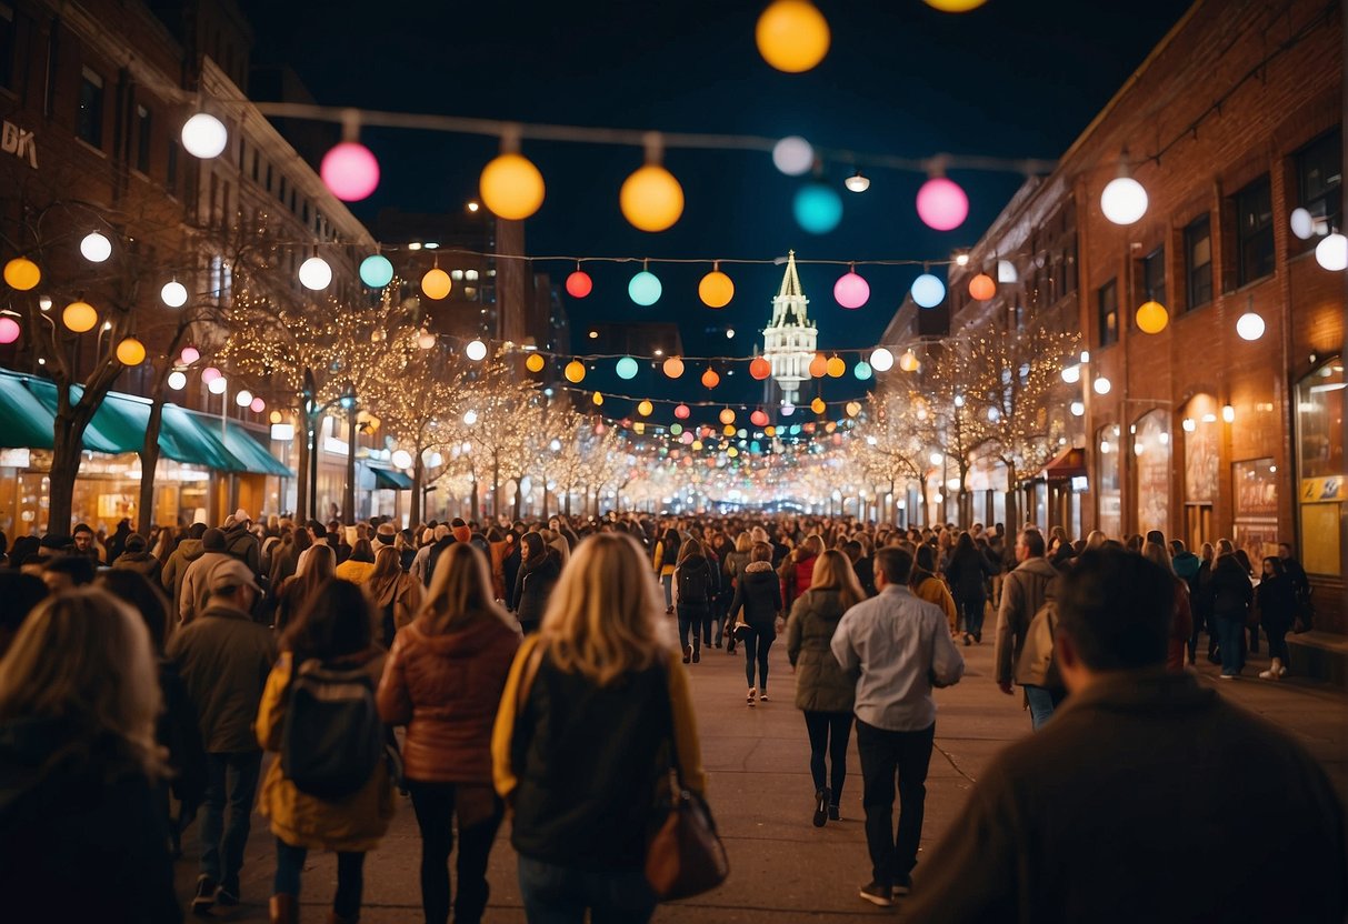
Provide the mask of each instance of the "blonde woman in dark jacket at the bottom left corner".
[{"label": "blonde woman in dark jacket at the bottom left corner", "polygon": [[150,632],[121,601],[73,590],[24,621],[0,659],[7,920],[182,920],[159,707]]}]

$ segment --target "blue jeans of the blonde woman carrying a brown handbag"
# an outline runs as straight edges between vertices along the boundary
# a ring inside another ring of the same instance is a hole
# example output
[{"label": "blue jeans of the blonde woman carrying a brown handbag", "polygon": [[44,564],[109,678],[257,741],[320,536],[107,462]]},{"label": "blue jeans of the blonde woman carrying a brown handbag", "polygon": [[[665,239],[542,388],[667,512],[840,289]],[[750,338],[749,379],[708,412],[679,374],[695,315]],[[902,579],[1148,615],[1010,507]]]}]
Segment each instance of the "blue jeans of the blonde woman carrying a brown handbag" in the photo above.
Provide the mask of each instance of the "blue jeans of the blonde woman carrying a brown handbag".
[{"label": "blue jeans of the blonde woman carrying a brown handbag", "polygon": [[644,924],[655,913],[655,893],[638,869],[580,870],[519,858],[519,892],[528,924]]}]

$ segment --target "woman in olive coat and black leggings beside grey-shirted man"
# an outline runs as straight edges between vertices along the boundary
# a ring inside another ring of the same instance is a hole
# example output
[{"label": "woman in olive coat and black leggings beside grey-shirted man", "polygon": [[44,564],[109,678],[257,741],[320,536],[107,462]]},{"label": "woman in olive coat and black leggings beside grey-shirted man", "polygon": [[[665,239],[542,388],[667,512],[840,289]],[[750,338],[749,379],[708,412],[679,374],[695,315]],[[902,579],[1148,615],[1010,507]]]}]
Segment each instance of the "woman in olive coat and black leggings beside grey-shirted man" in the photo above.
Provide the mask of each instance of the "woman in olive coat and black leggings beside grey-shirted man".
[{"label": "woman in olive coat and black leggings beside grey-shirted man", "polygon": [[[805,713],[814,779],[814,827],[837,822],[847,781],[847,745],[852,737],[856,675],[842,669],[830,648],[838,621],[865,599],[847,555],[830,548],[814,563],[810,589],[791,606],[786,655],[795,668],[795,707]],[[825,765],[832,764],[832,774]]]}]

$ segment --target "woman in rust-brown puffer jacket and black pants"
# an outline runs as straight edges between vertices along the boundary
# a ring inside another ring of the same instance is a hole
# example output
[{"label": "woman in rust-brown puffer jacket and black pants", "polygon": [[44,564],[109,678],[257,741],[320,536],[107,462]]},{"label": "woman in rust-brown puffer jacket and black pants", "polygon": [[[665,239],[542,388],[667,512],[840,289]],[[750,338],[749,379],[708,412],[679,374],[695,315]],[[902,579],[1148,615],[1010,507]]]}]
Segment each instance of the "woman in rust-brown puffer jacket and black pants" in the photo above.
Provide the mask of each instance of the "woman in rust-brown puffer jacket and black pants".
[{"label": "woman in rust-brown puffer jacket and black pants", "polygon": [[487,858],[504,812],[492,789],[492,722],[518,648],[519,629],[493,601],[485,556],[466,544],[446,550],[379,683],[380,717],[407,726],[403,774],[422,835],[426,924],[449,920],[456,820],[454,921],[476,924],[487,908]]}]

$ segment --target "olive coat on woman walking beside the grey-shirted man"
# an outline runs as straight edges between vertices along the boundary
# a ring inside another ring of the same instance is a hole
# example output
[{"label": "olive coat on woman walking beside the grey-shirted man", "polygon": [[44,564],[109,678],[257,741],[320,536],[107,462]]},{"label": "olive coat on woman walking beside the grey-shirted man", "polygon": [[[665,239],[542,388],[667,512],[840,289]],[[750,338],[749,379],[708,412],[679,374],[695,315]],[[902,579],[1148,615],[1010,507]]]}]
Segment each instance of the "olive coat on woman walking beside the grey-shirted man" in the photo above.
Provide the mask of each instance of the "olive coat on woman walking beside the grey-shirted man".
[{"label": "olive coat on woman walking beside the grey-shirted man", "polygon": [[851,713],[856,672],[842,669],[829,644],[844,613],[836,590],[797,598],[786,621],[786,656],[795,668],[795,707],[810,713]]}]

